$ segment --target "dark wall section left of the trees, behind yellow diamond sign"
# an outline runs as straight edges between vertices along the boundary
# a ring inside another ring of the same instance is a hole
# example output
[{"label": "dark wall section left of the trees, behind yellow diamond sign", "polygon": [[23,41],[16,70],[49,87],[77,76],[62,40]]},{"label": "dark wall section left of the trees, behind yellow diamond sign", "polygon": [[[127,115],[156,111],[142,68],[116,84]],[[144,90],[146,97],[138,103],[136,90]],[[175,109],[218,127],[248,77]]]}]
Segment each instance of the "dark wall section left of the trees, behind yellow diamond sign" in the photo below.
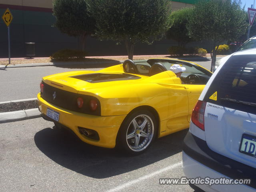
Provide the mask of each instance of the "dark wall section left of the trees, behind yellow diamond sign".
[{"label": "dark wall section left of the trees, behind yellow diamond sign", "polygon": [[[3,2],[6,0],[1,0]],[[30,3],[32,2],[32,3]],[[53,52],[67,48],[77,48],[77,39],[60,33],[57,28],[52,27],[55,18],[52,15],[52,8],[48,3],[30,0],[12,0],[9,3],[15,5],[0,4],[0,15],[8,7],[13,15],[10,24],[11,57],[25,57],[25,42],[35,42],[36,56],[50,56]],[[20,6],[37,5],[38,7]],[[0,19],[0,57],[8,57],[8,34],[7,27]]]}]

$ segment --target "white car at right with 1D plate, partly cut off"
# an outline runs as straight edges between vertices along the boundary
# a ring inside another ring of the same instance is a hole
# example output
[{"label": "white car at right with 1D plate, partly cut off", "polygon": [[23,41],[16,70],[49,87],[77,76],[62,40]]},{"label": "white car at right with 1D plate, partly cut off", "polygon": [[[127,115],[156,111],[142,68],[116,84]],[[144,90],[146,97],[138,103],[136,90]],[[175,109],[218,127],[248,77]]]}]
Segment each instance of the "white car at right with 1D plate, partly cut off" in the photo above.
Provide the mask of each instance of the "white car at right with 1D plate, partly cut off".
[{"label": "white car at right with 1D plate, partly cut off", "polygon": [[[203,180],[191,180],[192,188],[256,192],[256,48],[232,54],[214,72],[192,112],[182,154],[185,176]],[[230,182],[209,185],[207,178]],[[232,184],[236,179],[250,181]]]}]

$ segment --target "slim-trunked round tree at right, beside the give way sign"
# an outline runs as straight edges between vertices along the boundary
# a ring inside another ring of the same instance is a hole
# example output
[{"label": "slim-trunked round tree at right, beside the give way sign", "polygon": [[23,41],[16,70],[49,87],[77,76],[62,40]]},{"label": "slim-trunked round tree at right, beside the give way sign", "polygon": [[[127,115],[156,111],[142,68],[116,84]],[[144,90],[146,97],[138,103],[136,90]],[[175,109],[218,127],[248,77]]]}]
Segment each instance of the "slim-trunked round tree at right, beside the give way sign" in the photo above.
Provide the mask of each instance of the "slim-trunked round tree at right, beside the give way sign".
[{"label": "slim-trunked round tree at right, beside the give way sign", "polygon": [[241,0],[198,0],[188,22],[188,31],[196,40],[211,40],[213,71],[219,45],[226,40],[235,40],[246,30],[244,8]]}]

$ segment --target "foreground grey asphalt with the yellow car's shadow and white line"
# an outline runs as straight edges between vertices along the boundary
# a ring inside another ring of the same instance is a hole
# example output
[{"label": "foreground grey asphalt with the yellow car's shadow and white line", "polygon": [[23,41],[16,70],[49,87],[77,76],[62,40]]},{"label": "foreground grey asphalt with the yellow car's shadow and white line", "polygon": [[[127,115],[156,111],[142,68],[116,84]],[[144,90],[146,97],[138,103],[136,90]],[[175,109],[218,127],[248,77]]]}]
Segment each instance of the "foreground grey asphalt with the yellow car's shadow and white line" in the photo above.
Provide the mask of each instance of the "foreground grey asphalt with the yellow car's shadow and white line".
[{"label": "foreground grey asphalt with the yellow car's shadow and white line", "polygon": [[131,157],[90,146],[53,126],[42,118],[1,124],[2,192],[194,191],[188,185],[159,184],[159,178],[184,176],[182,140],[188,129]]}]

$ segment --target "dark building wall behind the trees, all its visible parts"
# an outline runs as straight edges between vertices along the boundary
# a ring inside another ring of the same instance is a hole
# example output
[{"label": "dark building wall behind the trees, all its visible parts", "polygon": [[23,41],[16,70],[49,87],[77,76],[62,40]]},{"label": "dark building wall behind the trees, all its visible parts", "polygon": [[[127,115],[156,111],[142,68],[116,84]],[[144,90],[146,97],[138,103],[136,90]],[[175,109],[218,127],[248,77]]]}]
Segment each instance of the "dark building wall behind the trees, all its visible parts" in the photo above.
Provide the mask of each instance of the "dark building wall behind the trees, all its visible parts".
[{"label": "dark building wall behind the trees, all its visible parts", "polygon": [[[194,0],[173,0],[172,10],[192,6]],[[11,57],[25,57],[25,42],[36,43],[36,56],[50,56],[63,48],[77,48],[77,38],[62,34],[53,27],[52,0],[0,0],[0,15],[10,8]],[[0,57],[8,57],[7,27],[0,19]],[[136,44],[134,54],[168,54],[167,48],[176,45],[172,40],[161,40],[152,45]],[[124,45],[113,41],[99,41],[88,37],[86,51],[90,56],[126,55]]]}]

